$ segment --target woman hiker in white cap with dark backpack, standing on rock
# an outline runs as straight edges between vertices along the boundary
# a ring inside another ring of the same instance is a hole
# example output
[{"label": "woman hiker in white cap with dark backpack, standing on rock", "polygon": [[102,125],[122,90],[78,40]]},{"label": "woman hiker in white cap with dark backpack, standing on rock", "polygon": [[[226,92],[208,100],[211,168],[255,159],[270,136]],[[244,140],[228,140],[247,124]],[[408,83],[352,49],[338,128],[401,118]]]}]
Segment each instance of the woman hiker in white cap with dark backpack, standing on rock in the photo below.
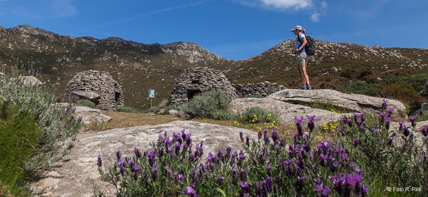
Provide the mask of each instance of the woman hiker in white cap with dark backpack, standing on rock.
[{"label": "woman hiker in white cap with dark backpack, standing on rock", "polygon": [[306,51],[305,51],[305,45],[307,44],[305,29],[303,29],[302,26],[298,25],[290,31],[293,32],[294,35],[298,36],[296,41],[294,42],[294,46],[295,46],[294,53],[296,54],[296,61],[299,67],[300,78],[302,79],[302,85],[300,85],[297,89],[311,90],[310,84],[309,84],[309,77],[306,74],[306,65],[309,61],[309,56],[306,55]]}]

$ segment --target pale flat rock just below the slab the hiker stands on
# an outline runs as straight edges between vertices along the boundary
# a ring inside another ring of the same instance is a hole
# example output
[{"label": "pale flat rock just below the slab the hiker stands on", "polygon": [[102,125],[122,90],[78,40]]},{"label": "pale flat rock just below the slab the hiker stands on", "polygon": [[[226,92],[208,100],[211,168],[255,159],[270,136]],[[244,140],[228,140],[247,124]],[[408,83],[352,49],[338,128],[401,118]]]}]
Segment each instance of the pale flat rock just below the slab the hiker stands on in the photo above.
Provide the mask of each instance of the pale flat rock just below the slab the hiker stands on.
[{"label": "pale flat rock just below the slab the hiker stands on", "polygon": [[[274,93],[275,94],[275,93]],[[241,98],[233,99],[229,104],[229,110],[237,110],[242,113],[246,108],[260,107],[263,110],[274,112],[278,117],[278,122],[282,125],[295,124],[294,118],[304,117],[303,123],[307,123],[306,115],[315,115],[313,122],[315,125],[322,125],[330,121],[340,120],[340,114],[323,109],[315,109],[304,105],[290,104],[279,99],[268,98]]]}]

